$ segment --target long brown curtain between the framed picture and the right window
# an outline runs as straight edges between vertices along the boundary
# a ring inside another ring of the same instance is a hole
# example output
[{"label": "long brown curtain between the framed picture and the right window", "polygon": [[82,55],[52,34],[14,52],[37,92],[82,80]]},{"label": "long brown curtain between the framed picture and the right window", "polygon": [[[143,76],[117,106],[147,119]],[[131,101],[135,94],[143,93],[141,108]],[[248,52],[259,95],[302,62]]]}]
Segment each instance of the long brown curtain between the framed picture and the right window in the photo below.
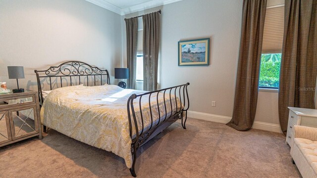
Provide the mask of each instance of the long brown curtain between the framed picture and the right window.
[{"label": "long brown curtain between the framed picture and the right window", "polygon": [[244,0],[234,107],[228,126],[251,129],[257,109],[259,70],[267,0]]}]

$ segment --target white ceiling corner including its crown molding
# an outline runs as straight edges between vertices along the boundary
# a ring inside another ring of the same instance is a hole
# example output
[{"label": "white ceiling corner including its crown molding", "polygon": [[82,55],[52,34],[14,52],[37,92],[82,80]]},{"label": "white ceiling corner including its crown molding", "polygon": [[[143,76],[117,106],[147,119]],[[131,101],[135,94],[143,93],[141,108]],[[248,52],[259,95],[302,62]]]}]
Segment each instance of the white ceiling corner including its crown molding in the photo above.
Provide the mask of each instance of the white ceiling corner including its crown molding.
[{"label": "white ceiling corner including its crown molding", "polygon": [[86,0],[112,12],[125,15],[181,0]]}]

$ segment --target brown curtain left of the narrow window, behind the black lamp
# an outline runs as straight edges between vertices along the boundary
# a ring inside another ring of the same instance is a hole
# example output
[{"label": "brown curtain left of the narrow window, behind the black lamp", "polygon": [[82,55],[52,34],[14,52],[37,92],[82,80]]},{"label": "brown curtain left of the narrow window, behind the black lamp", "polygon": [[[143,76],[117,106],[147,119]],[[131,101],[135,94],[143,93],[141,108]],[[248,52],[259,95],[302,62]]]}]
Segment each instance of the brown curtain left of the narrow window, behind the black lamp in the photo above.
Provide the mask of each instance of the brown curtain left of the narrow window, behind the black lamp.
[{"label": "brown curtain left of the narrow window, behind the black lamp", "polygon": [[136,88],[138,18],[124,19],[127,32],[127,67],[129,68],[128,89]]}]

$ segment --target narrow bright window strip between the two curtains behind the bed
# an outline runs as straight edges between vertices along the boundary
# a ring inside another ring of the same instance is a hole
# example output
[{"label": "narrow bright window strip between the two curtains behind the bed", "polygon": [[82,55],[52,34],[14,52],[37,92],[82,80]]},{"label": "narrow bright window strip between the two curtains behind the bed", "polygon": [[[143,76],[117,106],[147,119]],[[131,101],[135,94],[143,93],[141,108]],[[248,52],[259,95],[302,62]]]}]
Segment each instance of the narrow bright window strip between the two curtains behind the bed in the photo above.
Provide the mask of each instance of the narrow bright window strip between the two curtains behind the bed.
[{"label": "narrow bright window strip between the two curtains behind the bed", "polygon": [[136,80],[143,81],[143,30],[138,31]]}]

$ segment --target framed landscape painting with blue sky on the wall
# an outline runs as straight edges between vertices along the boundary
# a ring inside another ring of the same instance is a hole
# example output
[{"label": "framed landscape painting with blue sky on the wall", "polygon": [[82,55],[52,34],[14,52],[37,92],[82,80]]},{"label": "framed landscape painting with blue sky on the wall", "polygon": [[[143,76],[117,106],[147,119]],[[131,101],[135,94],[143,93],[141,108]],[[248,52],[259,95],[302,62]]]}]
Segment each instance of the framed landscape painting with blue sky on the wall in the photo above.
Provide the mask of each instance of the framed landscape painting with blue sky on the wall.
[{"label": "framed landscape painting with blue sky on the wall", "polygon": [[209,40],[197,39],[178,42],[178,66],[208,66]]}]

